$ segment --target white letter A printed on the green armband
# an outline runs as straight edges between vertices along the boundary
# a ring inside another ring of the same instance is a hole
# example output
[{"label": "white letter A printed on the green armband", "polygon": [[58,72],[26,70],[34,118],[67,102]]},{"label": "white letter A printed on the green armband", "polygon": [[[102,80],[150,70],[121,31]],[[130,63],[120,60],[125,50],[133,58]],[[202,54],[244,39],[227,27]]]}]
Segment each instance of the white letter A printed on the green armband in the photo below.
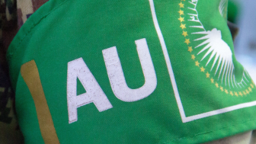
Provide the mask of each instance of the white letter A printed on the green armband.
[{"label": "white letter A printed on the green armband", "polygon": [[[77,78],[86,91],[85,94],[78,96],[76,95]],[[82,58],[68,63],[67,99],[69,123],[78,120],[77,108],[86,104],[94,103],[100,112],[112,108],[110,101],[108,101],[104,91],[102,91],[94,75],[91,74]]]}]

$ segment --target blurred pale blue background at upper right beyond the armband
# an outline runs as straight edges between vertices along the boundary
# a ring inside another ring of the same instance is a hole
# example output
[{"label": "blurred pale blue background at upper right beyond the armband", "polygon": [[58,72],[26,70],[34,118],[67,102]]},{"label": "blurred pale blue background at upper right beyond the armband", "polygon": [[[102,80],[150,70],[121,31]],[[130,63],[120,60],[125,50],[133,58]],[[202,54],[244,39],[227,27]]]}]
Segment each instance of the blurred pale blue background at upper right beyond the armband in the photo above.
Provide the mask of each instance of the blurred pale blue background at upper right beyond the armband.
[{"label": "blurred pale blue background at upper right beyond the armband", "polygon": [[229,0],[228,20],[238,26],[235,56],[256,82],[256,1]]}]

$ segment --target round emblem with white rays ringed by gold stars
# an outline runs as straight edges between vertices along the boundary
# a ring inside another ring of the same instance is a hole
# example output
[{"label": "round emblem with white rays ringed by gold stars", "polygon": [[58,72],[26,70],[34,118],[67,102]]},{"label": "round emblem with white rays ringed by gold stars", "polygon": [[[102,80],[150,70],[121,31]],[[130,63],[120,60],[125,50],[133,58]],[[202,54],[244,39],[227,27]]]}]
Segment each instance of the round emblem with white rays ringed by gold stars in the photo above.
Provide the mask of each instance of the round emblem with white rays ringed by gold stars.
[{"label": "round emblem with white rays ringed by gold stars", "polygon": [[[206,10],[200,2],[205,1],[181,0],[179,3],[178,20],[181,21],[182,35],[185,37],[191,59],[220,91],[237,97],[249,95],[254,83],[248,72],[235,59],[229,31],[220,27],[221,23],[222,26],[226,23],[227,0],[220,0],[218,7],[210,8],[219,8],[219,14],[210,9]],[[214,14],[213,18],[206,18],[206,12],[208,16]]]}]

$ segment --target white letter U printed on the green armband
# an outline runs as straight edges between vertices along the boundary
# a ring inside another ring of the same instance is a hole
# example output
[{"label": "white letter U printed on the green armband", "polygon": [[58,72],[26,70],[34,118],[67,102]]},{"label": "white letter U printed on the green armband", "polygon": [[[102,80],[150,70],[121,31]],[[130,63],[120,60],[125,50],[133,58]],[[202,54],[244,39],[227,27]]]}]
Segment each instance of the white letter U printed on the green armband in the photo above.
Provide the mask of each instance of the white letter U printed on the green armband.
[{"label": "white letter U printed on the green armband", "polygon": [[126,102],[139,101],[148,97],[155,91],[157,85],[155,69],[146,39],[136,40],[135,43],[145,77],[145,84],[137,89],[131,89],[126,84],[121,62],[117,54],[117,47],[114,46],[102,50],[111,88],[118,99]]}]

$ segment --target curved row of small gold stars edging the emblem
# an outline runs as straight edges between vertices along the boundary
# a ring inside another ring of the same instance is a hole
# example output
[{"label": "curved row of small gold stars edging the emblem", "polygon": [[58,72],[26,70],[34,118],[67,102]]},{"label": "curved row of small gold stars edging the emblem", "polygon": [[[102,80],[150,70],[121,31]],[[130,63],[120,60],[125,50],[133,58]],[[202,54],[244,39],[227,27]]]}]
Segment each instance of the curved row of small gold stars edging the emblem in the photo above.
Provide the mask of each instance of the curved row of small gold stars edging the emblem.
[{"label": "curved row of small gold stars edging the emblem", "polygon": [[216,88],[218,88],[220,91],[226,93],[226,94],[229,94],[229,95],[232,95],[232,96],[246,96],[248,94],[250,94],[252,92],[252,90],[254,89],[254,83],[252,82],[247,89],[245,89],[245,91],[230,91],[230,90],[227,90],[226,88],[223,88],[218,82],[215,82],[213,77],[210,76],[210,73],[206,71],[206,69],[203,67],[203,66],[200,66],[200,62],[198,62],[198,60],[196,59],[196,56],[194,53],[192,53],[193,51],[193,48],[192,46],[190,46],[190,39],[188,38],[188,34],[187,34],[187,31],[186,31],[186,24],[185,24],[185,20],[184,20],[184,3],[183,1],[186,1],[186,0],[181,0],[181,3],[179,3],[179,8],[180,8],[180,11],[178,11],[178,14],[179,14],[179,18],[178,18],[178,21],[181,22],[181,30],[182,30],[182,36],[184,36],[184,43],[187,44],[187,51],[190,53],[191,55],[191,59],[195,62],[195,66],[197,66],[198,68],[200,68],[200,72],[203,72],[206,74],[206,78],[209,78],[210,79],[210,82],[215,85]]}]

